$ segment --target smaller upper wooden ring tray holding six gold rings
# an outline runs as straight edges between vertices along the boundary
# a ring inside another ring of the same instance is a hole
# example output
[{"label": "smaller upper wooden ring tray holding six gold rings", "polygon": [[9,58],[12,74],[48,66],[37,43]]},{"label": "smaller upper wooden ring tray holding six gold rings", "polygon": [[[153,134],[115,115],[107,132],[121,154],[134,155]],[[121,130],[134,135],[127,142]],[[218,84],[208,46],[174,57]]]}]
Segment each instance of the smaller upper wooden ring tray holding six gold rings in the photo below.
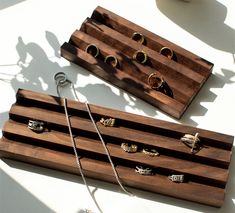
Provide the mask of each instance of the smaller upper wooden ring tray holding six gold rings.
[{"label": "smaller upper wooden ring tray holding six gold rings", "polygon": [[[144,36],[144,44],[132,39],[135,32]],[[96,58],[86,53],[89,44],[99,48]],[[173,50],[171,60],[159,53],[163,47]],[[133,60],[138,50],[147,54],[144,65]],[[182,116],[213,68],[205,59],[102,7],[97,7],[80,30],[71,35],[69,42],[61,46],[61,55],[175,118]],[[113,68],[104,63],[107,55],[114,55],[119,66]],[[148,77],[154,72],[162,75],[173,97],[148,85]]]}]

